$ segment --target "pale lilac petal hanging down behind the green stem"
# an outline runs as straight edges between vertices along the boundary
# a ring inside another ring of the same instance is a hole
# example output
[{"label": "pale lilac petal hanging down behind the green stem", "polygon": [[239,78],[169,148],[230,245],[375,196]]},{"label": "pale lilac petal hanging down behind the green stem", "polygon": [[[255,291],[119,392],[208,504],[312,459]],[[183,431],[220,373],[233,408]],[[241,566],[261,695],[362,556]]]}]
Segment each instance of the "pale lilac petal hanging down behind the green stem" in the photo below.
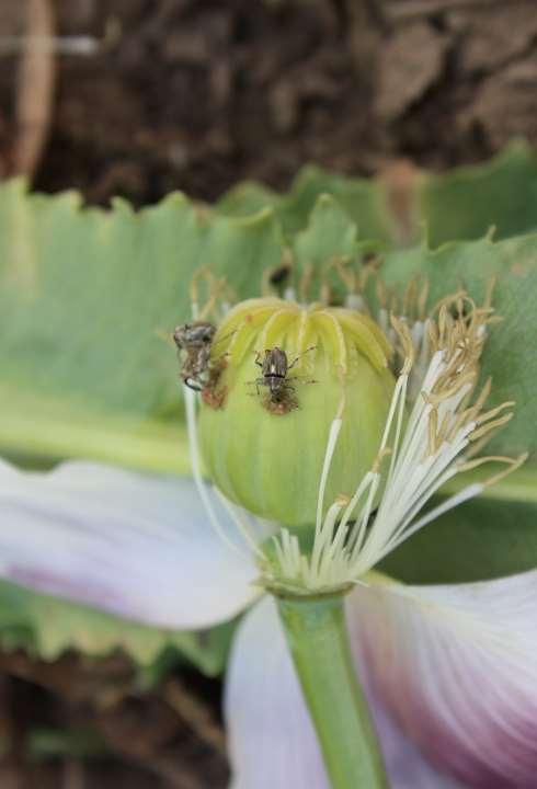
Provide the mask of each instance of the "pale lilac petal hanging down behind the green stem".
[{"label": "pale lilac petal hanging down behind the green stem", "polygon": [[[457,789],[369,699],[392,789]],[[330,789],[274,601],[243,618],[226,682],[232,789]]]}]

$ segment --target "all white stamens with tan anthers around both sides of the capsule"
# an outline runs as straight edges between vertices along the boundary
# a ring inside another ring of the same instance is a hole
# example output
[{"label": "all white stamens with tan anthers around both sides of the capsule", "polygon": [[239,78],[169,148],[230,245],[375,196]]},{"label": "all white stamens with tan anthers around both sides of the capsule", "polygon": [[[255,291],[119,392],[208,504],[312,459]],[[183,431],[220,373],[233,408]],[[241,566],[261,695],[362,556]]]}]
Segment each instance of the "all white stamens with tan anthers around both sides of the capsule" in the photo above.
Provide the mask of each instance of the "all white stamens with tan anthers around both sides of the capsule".
[{"label": "all white stamens with tan anthers around both sides of the capsule", "polygon": [[[300,293],[306,293],[308,282],[306,274]],[[193,318],[197,319],[197,291],[194,296]],[[347,300],[351,296],[356,300],[362,298],[350,294]],[[295,300],[293,288],[286,289],[285,298]],[[453,507],[478,495],[484,487],[524,461],[524,457],[516,460],[503,457],[470,460],[488,441],[490,433],[511,419],[512,414],[503,414],[503,411],[513,403],[502,403],[483,411],[490,381],[478,397],[473,396],[487,324],[493,318],[490,309],[479,310],[470,300],[467,301],[471,312],[464,317],[461,295],[458,294],[457,298],[458,301],[444,299],[437,307],[435,320],[424,319],[422,313],[420,320],[411,325],[403,318],[390,320],[388,311],[380,310],[379,324],[398,348],[402,366],[399,367],[377,456],[370,470],[357,483],[352,499],[349,501],[340,496],[325,511],[327,484],[343,426],[343,397],[327,441],[311,551],[302,550],[298,537],[282,528],[273,537],[274,554],[270,558],[261,549],[261,537],[245,513],[220,495],[243,545],[236,545],[230,539],[219,523],[202,476],[196,395],[184,388],[193,476],[210,524],[230,548],[240,553],[245,548],[249,554],[253,553],[260,560],[268,587],[307,594],[362,583],[365,573],[405,539]],[[410,414],[405,418],[409,402]],[[507,469],[484,482],[464,488],[420,516],[423,507],[446,482],[484,460],[503,462]]]}]

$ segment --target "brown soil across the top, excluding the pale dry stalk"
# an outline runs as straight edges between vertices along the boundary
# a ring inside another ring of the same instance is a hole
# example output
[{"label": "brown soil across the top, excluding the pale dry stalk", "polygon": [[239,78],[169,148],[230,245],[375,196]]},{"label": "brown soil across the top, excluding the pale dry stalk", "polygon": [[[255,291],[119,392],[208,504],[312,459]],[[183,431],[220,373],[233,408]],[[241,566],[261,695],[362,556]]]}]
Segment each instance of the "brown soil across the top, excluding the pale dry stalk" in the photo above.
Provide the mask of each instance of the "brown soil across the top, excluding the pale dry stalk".
[{"label": "brown soil across the top, excluding the pale dry stalk", "polygon": [[[52,0],[48,0],[52,2]],[[27,25],[19,0],[0,30]],[[533,0],[57,0],[55,102],[36,186],[137,204],[237,180],[285,188],[300,164],[346,173],[411,158],[444,168],[537,141]],[[64,38],[65,41],[65,38]],[[3,57],[0,158],[21,124]],[[19,88],[21,80],[19,80]],[[36,102],[38,96],[36,96]],[[45,98],[42,95],[42,101]]]}]

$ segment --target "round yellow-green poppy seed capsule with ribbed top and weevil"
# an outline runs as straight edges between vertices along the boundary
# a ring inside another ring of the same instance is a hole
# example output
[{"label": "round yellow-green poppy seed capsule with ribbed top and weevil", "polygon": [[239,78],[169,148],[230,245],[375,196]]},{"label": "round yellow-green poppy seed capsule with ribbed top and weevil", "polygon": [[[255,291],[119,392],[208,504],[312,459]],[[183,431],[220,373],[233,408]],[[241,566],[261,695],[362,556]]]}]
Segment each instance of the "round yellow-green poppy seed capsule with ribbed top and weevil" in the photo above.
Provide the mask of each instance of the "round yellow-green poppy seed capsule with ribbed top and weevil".
[{"label": "round yellow-green poppy seed capsule with ribbed top and weevil", "polygon": [[215,484],[261,517],[313,524],[338,414],[325,501],[352,494],[376,458],[395,386],[390,355],[378,325],[352,310],[276,298],[239,304],[215,335],[199,416]]}]

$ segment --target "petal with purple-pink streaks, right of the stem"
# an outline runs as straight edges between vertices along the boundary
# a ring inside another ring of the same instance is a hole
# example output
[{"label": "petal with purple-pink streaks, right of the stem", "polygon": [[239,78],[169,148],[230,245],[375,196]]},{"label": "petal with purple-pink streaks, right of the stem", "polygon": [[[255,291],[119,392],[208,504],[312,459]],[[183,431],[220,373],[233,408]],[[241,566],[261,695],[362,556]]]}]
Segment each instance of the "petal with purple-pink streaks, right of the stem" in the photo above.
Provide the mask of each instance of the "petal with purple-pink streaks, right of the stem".
[{"label": "petal with purple-pink streaks, right of the stem", "polygon": [[450,586],[372,574],[351,596],[378,696],[473,789],[537,786],[537,571]]}]

